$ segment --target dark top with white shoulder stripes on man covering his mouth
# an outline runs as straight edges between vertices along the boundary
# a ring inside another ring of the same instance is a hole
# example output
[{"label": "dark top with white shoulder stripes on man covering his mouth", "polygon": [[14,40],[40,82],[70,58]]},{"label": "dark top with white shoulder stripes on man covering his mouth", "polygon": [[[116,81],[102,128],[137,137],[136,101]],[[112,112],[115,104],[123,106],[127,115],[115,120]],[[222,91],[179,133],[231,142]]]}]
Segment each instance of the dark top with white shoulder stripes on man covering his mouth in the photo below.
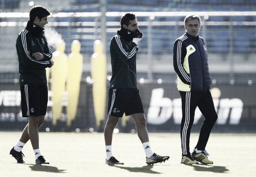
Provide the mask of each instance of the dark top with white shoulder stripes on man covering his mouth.
[{"label": "dark top with white shoulder stripes on man covering his mouth", "polygon": [[110,42],[112,77],[109,88],[137,88],[137,44],[132,42],[133,33],[122,28]]}]

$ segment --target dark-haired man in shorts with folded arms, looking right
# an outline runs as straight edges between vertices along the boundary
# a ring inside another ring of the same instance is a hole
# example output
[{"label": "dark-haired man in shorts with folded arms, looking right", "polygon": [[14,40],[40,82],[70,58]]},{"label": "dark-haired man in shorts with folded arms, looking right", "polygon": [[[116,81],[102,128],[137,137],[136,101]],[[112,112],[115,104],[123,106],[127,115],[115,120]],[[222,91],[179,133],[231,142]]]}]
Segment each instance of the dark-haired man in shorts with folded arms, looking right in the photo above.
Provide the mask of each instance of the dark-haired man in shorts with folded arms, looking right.
[{"label": "dark-haired man in shorts with folded arms, looking right", "polygon": [[44,33],[49,15],[50,12],[44,7],[34,6],[29,12],[27,27],[17,37],[22,117],[28,117],[28,125],[10,151],[17,163],[25,163],[22,148],[30,140],[36,164],[49,164],[41,155],[38,137],[38,128],[44,123],[48,102],[45,68],[53,66],[52,51]]}]

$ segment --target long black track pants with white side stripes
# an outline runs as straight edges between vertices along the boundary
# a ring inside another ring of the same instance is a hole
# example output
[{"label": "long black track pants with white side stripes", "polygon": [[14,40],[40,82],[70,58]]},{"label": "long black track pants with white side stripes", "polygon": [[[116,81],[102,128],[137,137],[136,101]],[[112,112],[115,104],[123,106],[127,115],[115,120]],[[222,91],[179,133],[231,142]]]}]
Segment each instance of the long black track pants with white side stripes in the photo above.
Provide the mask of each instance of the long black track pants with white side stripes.
[{"label": "long black track pants with white side stripes", "polygon": [[215,111],[211,92],[181,92],[182,119],[181,119],[181,148],[182,156],[190,154],[190,131],[194,122],[195,110],[198,107],[204,116],[200,135],[195,148],[205,150],[212,127],[218,115]]}]

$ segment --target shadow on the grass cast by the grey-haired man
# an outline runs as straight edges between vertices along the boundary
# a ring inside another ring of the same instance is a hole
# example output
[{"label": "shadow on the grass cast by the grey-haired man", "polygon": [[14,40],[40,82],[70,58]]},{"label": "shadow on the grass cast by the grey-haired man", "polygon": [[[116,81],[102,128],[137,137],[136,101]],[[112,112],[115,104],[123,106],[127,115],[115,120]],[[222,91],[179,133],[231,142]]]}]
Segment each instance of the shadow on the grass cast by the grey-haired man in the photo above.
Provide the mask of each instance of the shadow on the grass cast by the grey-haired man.
[{"label": "shadow on the grass cast by the grey-haired man", "polygon": [[227,173],[229,170],[223,166],[213,166],[207,164],[191,165],[195,171],[210,171],[214,173]]}]

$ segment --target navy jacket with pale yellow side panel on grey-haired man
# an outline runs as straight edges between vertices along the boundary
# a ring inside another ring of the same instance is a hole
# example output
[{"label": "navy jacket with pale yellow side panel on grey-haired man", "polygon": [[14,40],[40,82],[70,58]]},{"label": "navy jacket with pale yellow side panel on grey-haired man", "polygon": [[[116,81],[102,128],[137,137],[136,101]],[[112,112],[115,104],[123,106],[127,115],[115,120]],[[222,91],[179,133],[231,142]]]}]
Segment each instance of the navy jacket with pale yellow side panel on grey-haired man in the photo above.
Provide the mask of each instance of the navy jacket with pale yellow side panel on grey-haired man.
[{"label": "navy jacket with pale yellow side panel on grey-haired man", "polygon": [[185,33],[173,47],[173,66],[178,76],[177,88],[183,92],[207,92],[211,85],[208,55],[202,37]]}]

